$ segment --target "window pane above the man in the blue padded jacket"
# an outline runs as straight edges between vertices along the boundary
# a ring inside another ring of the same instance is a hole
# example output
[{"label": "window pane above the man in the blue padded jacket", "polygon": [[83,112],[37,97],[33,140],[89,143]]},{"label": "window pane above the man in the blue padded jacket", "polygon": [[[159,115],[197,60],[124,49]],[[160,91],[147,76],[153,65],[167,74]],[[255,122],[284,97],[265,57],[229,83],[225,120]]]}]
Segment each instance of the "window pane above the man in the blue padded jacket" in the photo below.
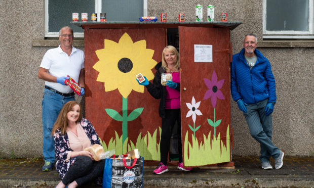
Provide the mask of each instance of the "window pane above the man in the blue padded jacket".
[{"label": "window pane above the man in the blue padded jacket", "polygon": [[267,31],[308,31],[308,0],[267,0]]}]

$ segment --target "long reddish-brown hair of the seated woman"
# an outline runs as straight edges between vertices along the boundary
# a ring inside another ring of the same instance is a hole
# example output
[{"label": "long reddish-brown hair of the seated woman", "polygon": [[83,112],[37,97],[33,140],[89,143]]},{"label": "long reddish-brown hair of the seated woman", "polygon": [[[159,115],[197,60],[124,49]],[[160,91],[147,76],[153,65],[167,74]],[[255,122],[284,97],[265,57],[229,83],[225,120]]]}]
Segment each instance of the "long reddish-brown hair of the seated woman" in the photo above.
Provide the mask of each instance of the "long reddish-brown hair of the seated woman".
[{"label": "long reddish-brown hair of the seated woman", "polygon": [[68,123],[67,113],[69,111],[71,111],[72,108],[75,105],[78,105],[80,107],[80,115],[78,115],[78,119],[77,119],[76,123],[78,123],[78,122],[80,122],[82,120],[82,110],[81,110],[82,108],[81,108],[81,105],[79,103],[77,103],[76,101],[69,101],[69,102],[65,103],[65,105],[62,107],[62,109],[61,109],[61,111],[60,111],[60,113],[58,115],[58,118],[57,118],[55,124],[52,127],[52,130],[51,130],[51,135],[52,136],[58,130],[61,131],[62,135],[65,135],[66,127],[67,127],[67,123]]}]

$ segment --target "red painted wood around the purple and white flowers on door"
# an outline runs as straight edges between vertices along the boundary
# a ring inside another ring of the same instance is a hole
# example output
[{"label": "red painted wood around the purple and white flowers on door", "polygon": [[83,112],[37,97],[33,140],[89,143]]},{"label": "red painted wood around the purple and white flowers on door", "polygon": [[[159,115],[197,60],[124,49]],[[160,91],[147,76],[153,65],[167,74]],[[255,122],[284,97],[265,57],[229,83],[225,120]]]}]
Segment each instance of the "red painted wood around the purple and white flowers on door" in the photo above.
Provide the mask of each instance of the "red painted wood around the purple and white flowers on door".
[{"label": "red painted wood around the purple and white flowers on door", "polygon": [[[201,125],[196,131],[195,137],[199,143],[204,143],[203,134],[211,132],[214,134],[214,127],[210,126],[207,119],[214,120],[214,108],[211,98],[203,100],[206,91],[209,89],[204,78],[212,80],[213,71],[217,74],[217,80],[224,79],[220,89],[224,95],[224,100],[217,98],[216,103],[216,121],[222,119],[221,124],[216,127],[216,137],[220,133],[223,144],[226,145],[226,130],[230,127],[230,82],[229,82],[229,29],[228,28],[196,28],[196,27],[179,27],[180,43],[180,68],[181,68],[181,122],[182,122],[182,146],[184,146],[184,137],[188,131],[188,139],[191,143],[193,132],[188,127],[193,127],[191,117],[186,118],[189,109],[186,103],[191,103],[192,96],[195,101],[201,101],[199,110],[203,115],[197,116],[195,127]],[[213,45],[213,62],[212,63],[195,63],[194,62],[194,44]],[[186,88],[186,90],[183,90]],[[230,142],[230,140],[228,140]],[[184,150],[184,148],[183,148]],[[219,155],[219,154],[218,154]],[[205,156],[204,156],[205,157]],[[231,159],[230,159],[231,161]]]}]

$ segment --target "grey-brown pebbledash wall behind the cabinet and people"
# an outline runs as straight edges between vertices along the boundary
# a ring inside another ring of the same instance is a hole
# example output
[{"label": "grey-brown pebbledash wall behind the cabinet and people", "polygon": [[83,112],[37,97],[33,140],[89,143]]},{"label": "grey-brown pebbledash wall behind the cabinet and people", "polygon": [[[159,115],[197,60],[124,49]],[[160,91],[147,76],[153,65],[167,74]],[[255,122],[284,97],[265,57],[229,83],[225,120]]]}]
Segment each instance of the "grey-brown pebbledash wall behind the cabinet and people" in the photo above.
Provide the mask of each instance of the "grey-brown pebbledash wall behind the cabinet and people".
[{"label": "grey-brown pebbledash wall behind the cabinet and people", "polygon": [[[311,41],[294,48],[285,42],[263,41],[262,0],[148,0],[147,4],[148,16],[164,12],[168,13],[169,21],[177,21],[178,13],[185,13],[186,21],[194,21],[195,5],[212,4],[216,21],[220,13],[226,12],[228,21],[243,22],[231,31],[232,53],[242,49],[244,34],[255,33],[259,46],[265,46],[258,50],[269,59],[276,78],[278,100],[272,116],[273,142],[286,155],[312,155],[314,48]],[[0,0],[0,10],[0,158],[42,157],[44,81],[37,78],[37,71],[46,51],[55,48],[58,41],[44,40],[44,1]],[[74,42],[82,50],[83,44],[82,40]],[[84,97],[77,97],[77,101],[85,103]],[[259,144],[250,136],[245,118],[233,101],[231,125],[232,155],[258,156]]]}]

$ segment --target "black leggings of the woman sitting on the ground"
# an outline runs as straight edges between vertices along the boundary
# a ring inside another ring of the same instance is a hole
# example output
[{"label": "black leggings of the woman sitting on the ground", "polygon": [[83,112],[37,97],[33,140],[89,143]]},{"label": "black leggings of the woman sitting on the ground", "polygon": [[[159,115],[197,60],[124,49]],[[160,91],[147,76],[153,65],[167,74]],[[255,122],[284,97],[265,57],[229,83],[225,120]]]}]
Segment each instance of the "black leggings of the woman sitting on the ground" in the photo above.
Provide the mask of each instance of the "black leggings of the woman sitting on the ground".
[{"label": "black leggings of the woman sitting on the ground", "polygon": [[101,176],[104,166],[105,160],[93,161],[88,156],[77,156],[74,164],[69,168],[61,181],[67,185],[75,180],[78,185],[82,185]]}]

